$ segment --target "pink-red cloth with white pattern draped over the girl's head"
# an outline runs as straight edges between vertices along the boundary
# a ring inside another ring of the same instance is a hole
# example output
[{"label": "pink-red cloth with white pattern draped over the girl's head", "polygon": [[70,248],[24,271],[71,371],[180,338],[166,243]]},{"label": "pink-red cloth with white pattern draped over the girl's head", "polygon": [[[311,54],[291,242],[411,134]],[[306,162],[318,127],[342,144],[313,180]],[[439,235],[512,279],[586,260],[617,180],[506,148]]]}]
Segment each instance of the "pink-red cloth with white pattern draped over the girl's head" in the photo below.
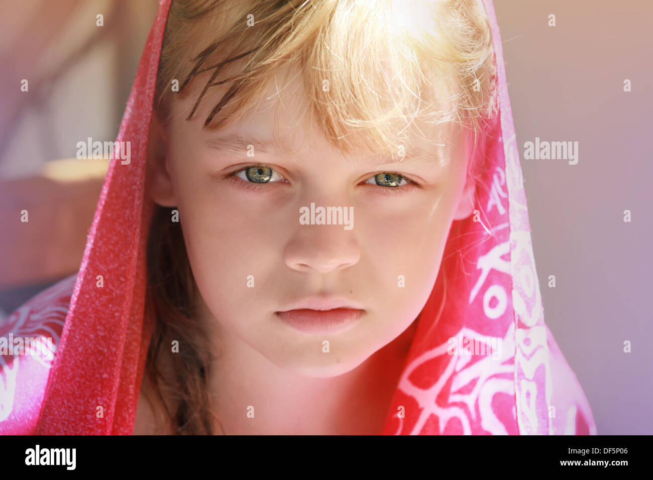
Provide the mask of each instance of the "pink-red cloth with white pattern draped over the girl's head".
[{"label": "pink-red cloth with white pattern draped over the girl's head", "polygon": [[[596,434],[581,386],[544,323],[502,42],[492,1],[483,4],[500,101],[481,152],[486,218],[454,221],[441,265],[447,302],[431,329],[441,308],[436,281],[383,434]],[[58,340],[54,361],[0,355],[0,434],[133,432],[152,330],[143,315],[153,206],[144,195],[145,159],[169,7],[160,1],[118,133],[131,142],[131,163],[111,162],[76,279],[36,296],[0,326],[0,336]],[[478,345],[485,355],[469,355]]]}]

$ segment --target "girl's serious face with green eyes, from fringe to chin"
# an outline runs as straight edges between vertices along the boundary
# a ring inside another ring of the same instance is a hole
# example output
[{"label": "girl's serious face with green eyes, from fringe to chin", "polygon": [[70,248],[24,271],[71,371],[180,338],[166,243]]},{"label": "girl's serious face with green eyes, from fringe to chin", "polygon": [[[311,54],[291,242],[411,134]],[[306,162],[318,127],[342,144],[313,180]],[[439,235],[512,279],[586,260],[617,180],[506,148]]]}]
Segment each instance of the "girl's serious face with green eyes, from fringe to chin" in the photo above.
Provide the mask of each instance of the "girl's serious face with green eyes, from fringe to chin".
[{"label": "girl's serious face with green eyes, from fringe to chin", "polygon": [[[411,138],[402,161],[345,155],[300,116],[299,80],[281,93],[271,84],[251,114],[217,132],[202,125],[226,87],[189,121],[203,84],[174,101],[165,129],[153,120],[167,155],[152,164],[150,191],[179,210],[202,316],[215,331],[296,374],[337,376],[392,342],[426,303],[451,222],[473,210],[468,146],[449,124],[422,129],[435,141]],[[426,155],[409,158],[418,149]],[[319,224],[319,207],[341,207],[343,216]],[[302,331],[319,330],[317,320],[295,317],[293,327],[293,315],[279,313],[316,298],[362,312],[321,332]]]}]

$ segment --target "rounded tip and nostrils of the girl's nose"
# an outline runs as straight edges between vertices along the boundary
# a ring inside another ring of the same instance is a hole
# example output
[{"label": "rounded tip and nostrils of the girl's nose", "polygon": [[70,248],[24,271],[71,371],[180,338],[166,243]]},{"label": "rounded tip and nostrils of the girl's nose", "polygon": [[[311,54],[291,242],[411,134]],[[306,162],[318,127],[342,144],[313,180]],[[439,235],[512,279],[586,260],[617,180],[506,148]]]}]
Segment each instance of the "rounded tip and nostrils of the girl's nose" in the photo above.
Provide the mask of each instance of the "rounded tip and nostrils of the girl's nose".
[{"label": "rounded tip and nostrils of the girl's nose", "polygon": [[327,274],[359,260],[353,229],[345,230],[342,225],[297,225],[284,251],[285,264],[298,272]]}]

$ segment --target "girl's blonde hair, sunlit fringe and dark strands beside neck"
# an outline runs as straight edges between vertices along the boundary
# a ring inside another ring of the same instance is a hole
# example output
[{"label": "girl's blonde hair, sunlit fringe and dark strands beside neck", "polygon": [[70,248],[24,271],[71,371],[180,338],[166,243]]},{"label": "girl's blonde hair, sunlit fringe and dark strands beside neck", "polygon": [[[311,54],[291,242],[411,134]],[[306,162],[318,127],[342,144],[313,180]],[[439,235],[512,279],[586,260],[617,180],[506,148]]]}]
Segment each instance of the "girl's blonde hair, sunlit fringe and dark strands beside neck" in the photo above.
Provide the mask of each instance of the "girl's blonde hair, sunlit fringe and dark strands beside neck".
[{"label": "girl's blonde hair, sunlit fringe and dark strands beside neck", "polygon": [[[204,121],[206,129],[221,129],[255,106],[274,73],[288,65],[300,67],[306,111],[342,152],[364,145],[394,157],[416,120],[428,126],[460,123],[473,131],[477,148],[485,119],[497,110],[492,33],[479,0],[173,0],[157,73],[155,112],[164,123],[169,121],[176,95],[188,95],[193,84],[206,78],[188,118],[197,114],[212,88],[225,85],[227,92]],[[170,88],[173,80],[178,80],[179,92]],[[229,115],[221,115],[228,104]],[[475,177],[479,167],[470,162],[468,174]],[[155,215],[151,248],[163,256],[185,256],[185,251],[155,247],[172,243],[161,238],[161,231],[169,230],[164,225],[169,218],[165,212]],[[201,365],[206,378],[208,359],[199,351],[202,328],[192,327],[188,299],[161,306],[161,295],[168,295],[174,283],[165,283],[174,274],[154,271],[165,264],[148,262],[150,281],[156,285],[148,290],[159,332],[155,338],[163,342],[179,330],[172,324],[183,316],[186,348],[196,351],[185,366],[176,366],[184,392],[178,399],[183,414],[178,411],[177,430],[207,432],[208,399],[193,394],[205,381],[185,379],[188,362]],[[178,270],[192,276],[187,264]],[[165,328],[168,334],[161,333]],[[154,360],[155,351],[148,366],[154,368]]]}]

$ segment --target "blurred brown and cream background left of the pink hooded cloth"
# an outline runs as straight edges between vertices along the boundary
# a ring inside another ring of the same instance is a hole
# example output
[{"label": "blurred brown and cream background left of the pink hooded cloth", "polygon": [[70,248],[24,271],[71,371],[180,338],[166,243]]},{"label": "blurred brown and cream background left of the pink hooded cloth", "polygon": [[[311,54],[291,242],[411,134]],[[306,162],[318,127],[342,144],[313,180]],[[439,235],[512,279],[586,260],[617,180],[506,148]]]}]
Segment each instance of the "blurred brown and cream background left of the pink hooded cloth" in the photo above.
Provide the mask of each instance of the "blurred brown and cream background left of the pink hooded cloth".
[{"label": "blurred brown and cream background left of the pink hooded cloth", "polygon": [[[156,0],[3,5],[0,318],[78,270],[108,161],[76,159],[76,144],[116,139],[157,8]],[[17,224],[21,210],[29,221]]]}]

